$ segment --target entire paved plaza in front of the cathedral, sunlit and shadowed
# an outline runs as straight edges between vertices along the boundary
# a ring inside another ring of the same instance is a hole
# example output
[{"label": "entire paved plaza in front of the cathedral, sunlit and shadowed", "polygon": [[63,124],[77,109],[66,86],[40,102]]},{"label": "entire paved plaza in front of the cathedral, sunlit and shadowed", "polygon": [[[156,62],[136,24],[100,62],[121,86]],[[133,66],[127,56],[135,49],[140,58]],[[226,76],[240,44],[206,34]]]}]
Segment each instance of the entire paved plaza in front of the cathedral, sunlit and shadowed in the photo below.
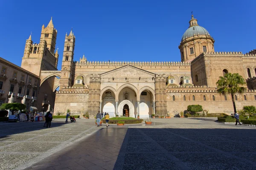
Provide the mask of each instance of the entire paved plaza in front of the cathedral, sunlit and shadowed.
[{"label": "entire paved plaza in front of the cathedral, sunlit and shadowed", "polygon": [[[0,170],[256,170],[256,127],[216,118],[0,124]],[[61,122],[62,121],[62,122]]]}]

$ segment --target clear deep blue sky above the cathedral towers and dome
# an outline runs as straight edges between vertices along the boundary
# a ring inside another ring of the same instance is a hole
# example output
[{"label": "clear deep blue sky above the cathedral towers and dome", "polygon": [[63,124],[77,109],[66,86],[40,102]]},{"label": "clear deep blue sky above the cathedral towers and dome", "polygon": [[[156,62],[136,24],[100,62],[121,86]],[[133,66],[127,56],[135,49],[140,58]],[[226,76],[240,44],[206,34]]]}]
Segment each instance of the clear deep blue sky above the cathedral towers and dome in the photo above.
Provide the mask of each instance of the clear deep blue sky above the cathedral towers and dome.
[{"label": "clear deep blue sky above the cathedral towers and dome", "polygon": [[26,39],[39,43],[52,16],[58,69],[66,32],[76,36],[74,60],[180,61],[178,45],[191,11],[215,39],[215,51],[256,48],[255,0],[6,0],[0,3],[0,57],[21,65]]}]

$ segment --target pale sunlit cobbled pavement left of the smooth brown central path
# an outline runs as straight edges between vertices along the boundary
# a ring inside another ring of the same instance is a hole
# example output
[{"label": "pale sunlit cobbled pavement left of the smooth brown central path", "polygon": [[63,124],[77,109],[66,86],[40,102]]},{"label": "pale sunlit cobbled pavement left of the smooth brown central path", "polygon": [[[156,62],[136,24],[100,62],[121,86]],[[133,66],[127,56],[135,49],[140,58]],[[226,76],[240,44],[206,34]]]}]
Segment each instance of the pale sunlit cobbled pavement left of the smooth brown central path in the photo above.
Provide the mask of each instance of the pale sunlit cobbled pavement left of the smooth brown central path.
[{"label": "pale sunlit cobbled pavement left of the smooth brown central path", "polygon": [[94,119],[54,119],[51,128],[43,126],[44,122],[0,123],[0,170],[29,167],[99,130]]}]

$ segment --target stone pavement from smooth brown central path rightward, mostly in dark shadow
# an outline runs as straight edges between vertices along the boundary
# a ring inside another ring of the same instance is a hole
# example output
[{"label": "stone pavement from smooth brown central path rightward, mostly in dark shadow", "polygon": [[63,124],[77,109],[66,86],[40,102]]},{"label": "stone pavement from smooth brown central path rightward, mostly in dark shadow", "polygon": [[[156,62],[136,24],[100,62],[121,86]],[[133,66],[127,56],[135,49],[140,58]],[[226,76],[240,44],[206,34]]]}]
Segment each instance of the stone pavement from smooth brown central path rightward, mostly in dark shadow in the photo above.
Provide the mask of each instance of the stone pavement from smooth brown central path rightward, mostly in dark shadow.
[{"label": "stone pavement from smooth brown central path rightward, mostly in dark shadow", "polygon": [[256,170],[256,128],[215,119],[102,126],[26,170]]}]

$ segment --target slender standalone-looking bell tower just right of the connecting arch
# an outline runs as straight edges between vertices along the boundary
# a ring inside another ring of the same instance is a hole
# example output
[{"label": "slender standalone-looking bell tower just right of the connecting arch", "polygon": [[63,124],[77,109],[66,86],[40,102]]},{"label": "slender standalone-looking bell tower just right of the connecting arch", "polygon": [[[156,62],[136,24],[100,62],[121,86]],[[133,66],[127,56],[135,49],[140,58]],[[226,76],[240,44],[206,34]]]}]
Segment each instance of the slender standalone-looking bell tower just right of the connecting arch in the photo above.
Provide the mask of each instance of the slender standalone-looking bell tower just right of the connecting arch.
[{"label": "slender standalone-looking bell tower just right of the connecting arch", "polygon": [[73,57],[76,37],[71,29],[70,34],[65,36],[64,51],[61,65],[60,89],[72,86],[73,76]]}]

